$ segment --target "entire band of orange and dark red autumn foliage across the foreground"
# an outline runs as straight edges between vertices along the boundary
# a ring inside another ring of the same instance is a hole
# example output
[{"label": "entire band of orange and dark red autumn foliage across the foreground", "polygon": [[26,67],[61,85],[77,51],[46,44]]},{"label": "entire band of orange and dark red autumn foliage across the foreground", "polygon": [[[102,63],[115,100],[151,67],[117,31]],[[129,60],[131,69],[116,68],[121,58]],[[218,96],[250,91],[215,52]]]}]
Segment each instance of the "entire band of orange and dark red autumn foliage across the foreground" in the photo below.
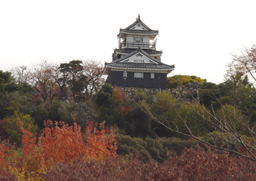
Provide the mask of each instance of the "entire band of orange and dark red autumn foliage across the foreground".
[{"label": "entire band of orange and dark red autumn foliage across the foreground", "polygon": [[0,180],[255,180],[255,162],[207,145],[143,163],[137,155],[116,156],[114,130],[104,122],[87,124],[83,133],[75,123],[45,125],[38,138],[21,126],[18,150],[1,141]]}]

